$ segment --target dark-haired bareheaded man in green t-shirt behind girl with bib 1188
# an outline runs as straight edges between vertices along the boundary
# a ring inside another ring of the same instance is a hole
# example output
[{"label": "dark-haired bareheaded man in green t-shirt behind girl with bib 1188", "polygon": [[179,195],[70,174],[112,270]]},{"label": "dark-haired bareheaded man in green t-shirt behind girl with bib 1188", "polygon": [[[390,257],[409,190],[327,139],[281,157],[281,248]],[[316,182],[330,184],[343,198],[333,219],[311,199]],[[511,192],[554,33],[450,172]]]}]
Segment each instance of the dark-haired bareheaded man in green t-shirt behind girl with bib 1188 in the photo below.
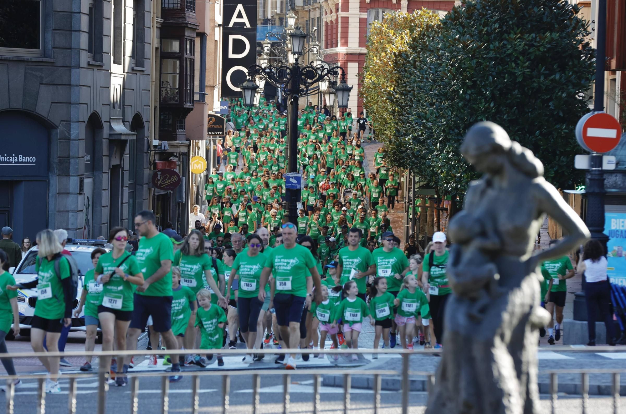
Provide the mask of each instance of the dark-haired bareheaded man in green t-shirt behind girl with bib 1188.
[{"label": "dark-haired bareheaded man in green t-shirt behind girl with bib 1188", "polygon": [[339,250],[339,266],[337,273],[341,275],[341,285],[349,280],[356,281],[359,293],[357,296],[365,300],[367,276],[376,273],[372,253],[361,246],[361,230],[352,228],[348,232],[349,245]]}]

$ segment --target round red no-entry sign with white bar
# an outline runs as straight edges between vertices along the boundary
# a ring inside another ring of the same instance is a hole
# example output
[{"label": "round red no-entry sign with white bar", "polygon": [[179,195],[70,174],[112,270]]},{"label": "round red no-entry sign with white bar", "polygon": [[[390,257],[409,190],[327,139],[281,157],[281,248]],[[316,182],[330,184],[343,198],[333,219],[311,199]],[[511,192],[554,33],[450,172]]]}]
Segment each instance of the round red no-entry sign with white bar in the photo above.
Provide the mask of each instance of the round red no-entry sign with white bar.
[{"label": "round red no-entry sign with white bar", "polygon": [[614,116],[591,112],[576,125],[576,139],[583,149],[594,153],[608,153],[620,143],[622,127]]}]

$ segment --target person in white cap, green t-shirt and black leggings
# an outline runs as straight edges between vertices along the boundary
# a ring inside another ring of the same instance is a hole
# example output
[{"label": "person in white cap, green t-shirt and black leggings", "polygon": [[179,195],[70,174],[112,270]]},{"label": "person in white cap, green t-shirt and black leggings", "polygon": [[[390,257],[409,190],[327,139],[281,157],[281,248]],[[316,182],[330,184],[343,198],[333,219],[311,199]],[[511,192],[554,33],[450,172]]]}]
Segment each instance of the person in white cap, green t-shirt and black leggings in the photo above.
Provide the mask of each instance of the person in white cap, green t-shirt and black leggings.
[{"label": "person in white cap, green t-shirt and black leggings", "polygon": [[446,235],[437,231],[433,235],[433,250],[424,258],[422,262],[422,284],[424,289],[430,293],[430,309],[433,316],[434,335],[437,338],[437,345],[434,348],[441,348],[444,331],[444,311],[446,302],[452,292],[448,283],[446,266],[448,265],[448,250],[446,250]]}]

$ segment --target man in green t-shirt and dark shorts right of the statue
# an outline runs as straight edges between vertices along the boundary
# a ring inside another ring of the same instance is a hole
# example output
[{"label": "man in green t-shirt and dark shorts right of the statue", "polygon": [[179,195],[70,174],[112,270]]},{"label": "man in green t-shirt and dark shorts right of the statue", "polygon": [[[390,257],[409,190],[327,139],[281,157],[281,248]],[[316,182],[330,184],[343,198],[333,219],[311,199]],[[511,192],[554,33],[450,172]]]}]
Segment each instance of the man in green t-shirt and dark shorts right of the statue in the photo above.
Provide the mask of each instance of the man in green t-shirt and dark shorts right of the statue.
[{"label": "man in green t-shirt and dark shorts right of the statue", "polygon": [[[550,240],[548,246],[552,246],[558,243],[558,240]],[[546,310],[550,312],[550,316],[555,313],[557,325],[554,325],[554,320],[550,318],[548,323],[548,343],[554,345],[555,341],[561,339],[561,324],[563,323],[563,308],[565,308],[565,296],[567,296],[567,279],[572,278],[574,268],[572,261],[568,256],[563,256],[555,260],[548,260],[541,263],[541,270],[547,271],[550,275],[550,282],[548,283],[548,293],[545,297],[541,298],[545,302]],[[553,335],[554,334],[554,335]]]}]

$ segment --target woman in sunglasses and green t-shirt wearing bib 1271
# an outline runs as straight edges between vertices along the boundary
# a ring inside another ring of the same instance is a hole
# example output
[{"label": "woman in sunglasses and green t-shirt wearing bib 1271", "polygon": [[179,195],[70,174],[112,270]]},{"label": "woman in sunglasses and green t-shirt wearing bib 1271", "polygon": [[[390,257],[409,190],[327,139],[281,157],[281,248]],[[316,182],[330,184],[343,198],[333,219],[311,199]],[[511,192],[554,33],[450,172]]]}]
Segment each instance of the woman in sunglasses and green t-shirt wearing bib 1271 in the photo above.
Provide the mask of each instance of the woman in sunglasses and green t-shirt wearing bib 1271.
[{"label": "woman in sunglasses and green t-shirt wearing bib 1271", "polygon": [[[102,329],[102,350],[113,350],[113,336],[115,333],[116,350],[126,350],[126,333],[133,313],[133,295],[136,286],[143,285],[143,274],[139,270],[139,263],[135,256],[126,251],[128,230],[123,227],[114,227],[109,233],[108,243],[113,245],[113,251],[100,256],[98,265],[93,272],[93,278],[102,285],[98,299],[98,319]],[[124,386],[128,365],[124,365],[125,356],[116,357],[117,371],[115,385]],[[111,365],[111,357],[104,356],[101,363]]]}]

